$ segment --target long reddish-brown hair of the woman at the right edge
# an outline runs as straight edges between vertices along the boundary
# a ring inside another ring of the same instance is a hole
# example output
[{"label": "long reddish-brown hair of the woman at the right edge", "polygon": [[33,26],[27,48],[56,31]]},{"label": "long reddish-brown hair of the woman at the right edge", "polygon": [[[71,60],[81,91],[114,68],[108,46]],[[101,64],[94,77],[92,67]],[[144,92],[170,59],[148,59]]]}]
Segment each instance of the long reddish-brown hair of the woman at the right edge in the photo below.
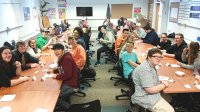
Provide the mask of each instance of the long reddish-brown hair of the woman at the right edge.
[{"label": "long reddish-brown hair of the woman at the right edge", "polygon": [[199,43],[193,41],[190,42],[188,64],[194,63],[194,60],[198,57],[198,52],[199,52]]}]

